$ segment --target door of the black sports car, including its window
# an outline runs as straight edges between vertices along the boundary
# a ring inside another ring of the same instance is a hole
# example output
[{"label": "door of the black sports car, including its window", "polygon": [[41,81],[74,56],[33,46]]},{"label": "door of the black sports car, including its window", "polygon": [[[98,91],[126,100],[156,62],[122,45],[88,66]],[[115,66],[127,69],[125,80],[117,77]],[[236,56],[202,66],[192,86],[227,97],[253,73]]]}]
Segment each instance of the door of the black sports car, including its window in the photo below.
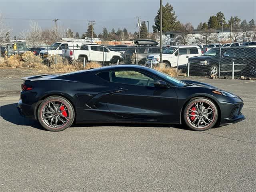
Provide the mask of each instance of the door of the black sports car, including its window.
[{"label": "door of the black sports car, including its window", "polygon": [[171,122],[177,117],[174,88],[155,88],[156,77],[135,70],[116,70],[109,74],[110,87],[119,91],[104,96],[101,102],[117,117],[160,122]]}]

